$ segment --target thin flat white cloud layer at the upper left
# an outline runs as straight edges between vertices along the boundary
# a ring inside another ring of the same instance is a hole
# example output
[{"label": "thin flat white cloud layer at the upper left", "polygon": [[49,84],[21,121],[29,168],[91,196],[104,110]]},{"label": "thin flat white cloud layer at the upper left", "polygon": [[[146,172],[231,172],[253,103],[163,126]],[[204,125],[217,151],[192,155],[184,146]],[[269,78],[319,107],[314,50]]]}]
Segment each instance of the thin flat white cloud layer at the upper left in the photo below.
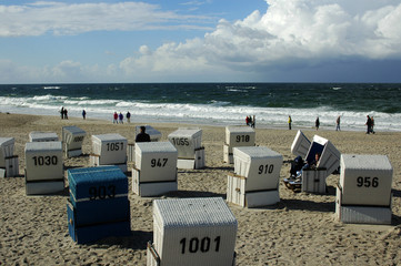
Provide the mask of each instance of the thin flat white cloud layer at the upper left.
[{"label": "thin flat white cloud layer at the upper left", "polygon": [[[210,30],[205,16],[162,11],[146,2],[62,3],[34,2],[0,6],[0,37],[79,34],[90,31],[133,31],[156,29]],[[191,22],[188,22],[191,21]]]}]

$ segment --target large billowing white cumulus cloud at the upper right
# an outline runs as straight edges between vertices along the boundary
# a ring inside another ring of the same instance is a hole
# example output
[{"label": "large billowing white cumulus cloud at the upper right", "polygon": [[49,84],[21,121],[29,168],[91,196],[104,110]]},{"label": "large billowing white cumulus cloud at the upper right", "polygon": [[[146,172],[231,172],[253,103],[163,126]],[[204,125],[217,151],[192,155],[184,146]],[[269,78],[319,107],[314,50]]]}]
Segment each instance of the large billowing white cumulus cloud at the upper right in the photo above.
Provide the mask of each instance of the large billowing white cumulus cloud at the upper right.
[{"label": "large billowing white cumulus cloud at the upper right", "polygon": [[[127,74],[254,72],[347,61],[401,58],[399,1],[268,0],[264,14],[219,21],[203,39],[164,43],[127,58]],[[357,4],[360,4],[355,7]],[[379,6],[383,4],[383,6]]]}]

